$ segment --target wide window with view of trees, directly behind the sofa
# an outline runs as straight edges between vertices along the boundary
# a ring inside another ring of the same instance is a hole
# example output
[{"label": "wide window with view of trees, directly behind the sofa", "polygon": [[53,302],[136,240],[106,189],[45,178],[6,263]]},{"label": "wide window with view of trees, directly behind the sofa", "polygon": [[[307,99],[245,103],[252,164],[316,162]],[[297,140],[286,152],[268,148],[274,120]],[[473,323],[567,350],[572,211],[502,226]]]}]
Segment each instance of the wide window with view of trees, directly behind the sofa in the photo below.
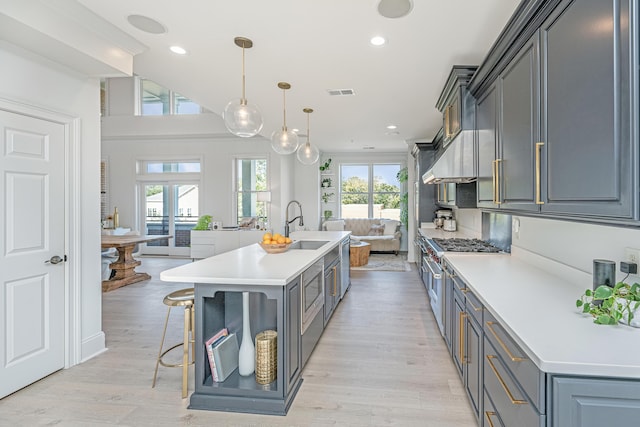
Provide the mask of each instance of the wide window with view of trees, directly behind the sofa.
[{"label": "wide window with view of trees, directly behind the sofa", "polygon": [[343,218],[400,220],[400,164],[340,166],[340,215]]}]

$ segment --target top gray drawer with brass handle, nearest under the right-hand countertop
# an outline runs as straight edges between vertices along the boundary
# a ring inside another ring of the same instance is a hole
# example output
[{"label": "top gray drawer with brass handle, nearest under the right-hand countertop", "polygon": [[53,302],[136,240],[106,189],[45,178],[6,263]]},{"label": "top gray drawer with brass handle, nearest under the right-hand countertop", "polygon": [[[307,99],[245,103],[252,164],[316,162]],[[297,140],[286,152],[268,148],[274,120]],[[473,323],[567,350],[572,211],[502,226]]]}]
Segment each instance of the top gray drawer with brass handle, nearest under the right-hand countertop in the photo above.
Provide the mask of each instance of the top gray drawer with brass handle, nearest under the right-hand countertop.
[{"label": "top gray drawer with brass handle, nearest under the right-hand countertop", "polygon": [[501,359],[535,408],[540,413],[546,413],[544,372],[538,369],[489,311],[484,313],[484,336],[492,344],[491,347],[485,344],[485,355],[490,354],[489,349],[492,349],[493,355]]}]

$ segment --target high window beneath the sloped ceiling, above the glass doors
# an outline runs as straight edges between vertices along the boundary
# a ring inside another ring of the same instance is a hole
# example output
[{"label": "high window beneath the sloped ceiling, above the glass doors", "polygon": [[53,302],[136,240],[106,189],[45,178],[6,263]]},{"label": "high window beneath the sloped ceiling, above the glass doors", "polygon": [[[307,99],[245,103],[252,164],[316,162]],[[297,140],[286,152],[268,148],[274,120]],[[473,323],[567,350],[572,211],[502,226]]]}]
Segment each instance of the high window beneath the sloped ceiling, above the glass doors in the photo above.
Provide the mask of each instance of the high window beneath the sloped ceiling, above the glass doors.
[{"label": "high window beneath the sloped ceiling, above the glass doors", "polygon": [[156,82],[140,79],[140,87],[142,91],[140,111],[143,116],[200,114],[202,112],[200,105]]}]

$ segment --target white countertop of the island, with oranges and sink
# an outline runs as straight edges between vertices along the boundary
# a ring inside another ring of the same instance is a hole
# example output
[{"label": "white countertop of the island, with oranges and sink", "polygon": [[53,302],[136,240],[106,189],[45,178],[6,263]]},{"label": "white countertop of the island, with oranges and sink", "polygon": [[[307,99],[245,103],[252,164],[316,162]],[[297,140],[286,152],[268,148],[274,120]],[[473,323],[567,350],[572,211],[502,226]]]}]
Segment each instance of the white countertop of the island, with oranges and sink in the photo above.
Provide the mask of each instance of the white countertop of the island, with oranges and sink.
[{"label": "white countertop of the island, with oranges and sink", "polygon": [[165,282],[285,286],[351,234],[350,231],[298,231],[292,240],[327,240],[319,249],[268,254],[258,243],[160,273]]}]

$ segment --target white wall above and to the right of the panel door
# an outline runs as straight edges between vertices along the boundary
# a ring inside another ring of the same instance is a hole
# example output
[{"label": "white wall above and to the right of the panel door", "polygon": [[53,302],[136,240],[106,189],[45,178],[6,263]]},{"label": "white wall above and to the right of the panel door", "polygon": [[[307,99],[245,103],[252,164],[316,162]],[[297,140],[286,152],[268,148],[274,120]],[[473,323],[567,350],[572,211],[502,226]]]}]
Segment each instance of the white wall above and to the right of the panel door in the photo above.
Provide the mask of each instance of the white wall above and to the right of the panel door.
[{"label": "white wall above and to the right of the panel door", "polygon": [[[81,121],[79,175],[82,313],[80,359],[104,350],[102,289],[100,286],[100,82],[20,48],[0,43],[0,97]],[[64,165],[60,165],[64,167]],[[72,177],[72,179],[74,179]],[[73,340],[74,337],[71,339]],[[73,361],[72,361],[73,363]]]}]

